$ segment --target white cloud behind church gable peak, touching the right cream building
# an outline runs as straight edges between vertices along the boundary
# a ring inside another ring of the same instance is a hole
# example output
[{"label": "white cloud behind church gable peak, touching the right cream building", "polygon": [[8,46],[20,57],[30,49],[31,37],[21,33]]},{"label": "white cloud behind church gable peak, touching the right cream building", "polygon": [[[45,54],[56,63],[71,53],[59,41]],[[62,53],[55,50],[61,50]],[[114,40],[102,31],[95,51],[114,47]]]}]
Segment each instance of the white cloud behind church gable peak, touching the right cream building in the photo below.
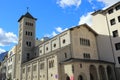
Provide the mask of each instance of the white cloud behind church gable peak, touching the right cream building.
[{"label": "white cloud behind church gable peak, touching the right cream building", "polygon": [[91,13],[92,12],[88,12],[86,15],[82,15],[80,17],[80,20],[79,20],[79,23],[78,25],[81,25],[81,24],[88,24],[89,26],[91,26],[92,24],[92,16],[91,16]]}]

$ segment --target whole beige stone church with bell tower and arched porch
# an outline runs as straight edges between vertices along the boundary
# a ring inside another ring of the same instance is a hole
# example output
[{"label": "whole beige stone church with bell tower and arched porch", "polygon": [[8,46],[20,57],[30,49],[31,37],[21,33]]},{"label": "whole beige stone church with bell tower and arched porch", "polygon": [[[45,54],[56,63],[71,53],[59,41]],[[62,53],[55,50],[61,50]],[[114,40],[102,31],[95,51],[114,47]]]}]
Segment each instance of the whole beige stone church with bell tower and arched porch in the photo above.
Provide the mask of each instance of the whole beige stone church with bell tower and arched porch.
[{"label": "whole beige stone church with bell tower and arched porch", "polygon": [[36,42],[35,21],[29,12],[18,20],[16,80],[116,80],[114,63],[100,60],[98,34],[88,25]]}]

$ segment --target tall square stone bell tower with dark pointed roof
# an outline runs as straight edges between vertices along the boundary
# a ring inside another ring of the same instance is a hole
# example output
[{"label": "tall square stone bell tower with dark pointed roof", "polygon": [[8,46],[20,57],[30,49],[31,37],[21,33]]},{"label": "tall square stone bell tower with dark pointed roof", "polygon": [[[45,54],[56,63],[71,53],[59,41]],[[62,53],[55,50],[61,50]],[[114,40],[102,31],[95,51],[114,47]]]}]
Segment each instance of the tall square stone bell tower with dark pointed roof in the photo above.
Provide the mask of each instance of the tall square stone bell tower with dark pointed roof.
[{"label": "tall square stone bell tower with dark pointed roof", "polygon": [[21,63],[34,58],[36,18],[29,12],[22,15],[19,22],[18,53]]}]

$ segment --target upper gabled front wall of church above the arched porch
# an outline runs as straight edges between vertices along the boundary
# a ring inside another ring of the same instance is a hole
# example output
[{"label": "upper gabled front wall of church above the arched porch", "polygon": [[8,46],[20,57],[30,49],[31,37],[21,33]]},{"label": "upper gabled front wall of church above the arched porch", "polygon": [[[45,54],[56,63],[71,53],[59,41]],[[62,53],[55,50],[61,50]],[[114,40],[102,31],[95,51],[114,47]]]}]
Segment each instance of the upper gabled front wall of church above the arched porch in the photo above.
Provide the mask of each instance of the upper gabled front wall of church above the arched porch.
[{"label": "upper gabled front wall of church above the arched porch", "polygon": [[97,33],[87,25],[71,29],[71,47],[74,58],[98,59]]}]

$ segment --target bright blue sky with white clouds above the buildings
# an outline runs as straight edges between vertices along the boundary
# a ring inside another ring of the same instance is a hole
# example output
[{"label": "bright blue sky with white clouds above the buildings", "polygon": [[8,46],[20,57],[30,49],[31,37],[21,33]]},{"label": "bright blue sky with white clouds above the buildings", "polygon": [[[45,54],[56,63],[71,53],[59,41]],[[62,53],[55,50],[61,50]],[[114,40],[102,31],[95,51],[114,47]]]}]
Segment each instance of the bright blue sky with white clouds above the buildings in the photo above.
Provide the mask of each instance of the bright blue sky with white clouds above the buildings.
[{"label": "bright blue sky with white clouds above the buildings", "polygon": [[18,22],[29,12],[37,18],[36,37],[53,37],[82,23],[91,25],[91,13],[119,0],[1,0],[0,53],[10,50],[18,40]]}]

